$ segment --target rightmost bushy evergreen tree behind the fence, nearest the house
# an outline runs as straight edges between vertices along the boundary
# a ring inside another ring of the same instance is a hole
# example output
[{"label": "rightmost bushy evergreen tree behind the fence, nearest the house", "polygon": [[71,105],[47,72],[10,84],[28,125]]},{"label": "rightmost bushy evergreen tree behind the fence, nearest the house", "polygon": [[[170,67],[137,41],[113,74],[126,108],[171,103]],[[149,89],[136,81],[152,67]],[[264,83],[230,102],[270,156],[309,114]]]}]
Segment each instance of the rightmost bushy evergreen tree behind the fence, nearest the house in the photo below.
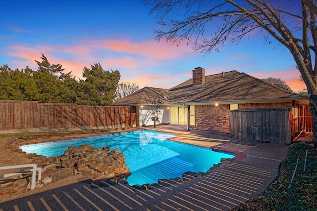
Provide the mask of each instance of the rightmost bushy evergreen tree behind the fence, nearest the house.
[{"label": "rightmost bushy evergreen tree behind the fence, nearest the house", "polygon": [[79,81],[79,105],[109,105],[114,97],[120,80],[118,70],[105,71],[100,63],[84,68],[83,77]]}]

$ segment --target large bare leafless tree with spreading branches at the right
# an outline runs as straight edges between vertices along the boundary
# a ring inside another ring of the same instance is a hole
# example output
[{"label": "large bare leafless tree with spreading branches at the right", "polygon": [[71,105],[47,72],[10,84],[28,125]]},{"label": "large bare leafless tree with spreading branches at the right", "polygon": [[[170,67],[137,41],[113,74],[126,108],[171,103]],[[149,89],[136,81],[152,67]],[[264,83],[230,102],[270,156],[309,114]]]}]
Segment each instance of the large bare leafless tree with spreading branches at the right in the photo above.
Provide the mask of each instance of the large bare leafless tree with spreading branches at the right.
[{"label": "large bare leafless tree with spreading branches at the right", "polygon": [[[273,38],[292,54],[307,86],[317,143],[317,2],[313,0],[143,0],[161,28],[155,39],[210,53],[251,33]],[[268,41],[268,40],[267,40]],[[270,43],[270,41],[268,41]]]}]

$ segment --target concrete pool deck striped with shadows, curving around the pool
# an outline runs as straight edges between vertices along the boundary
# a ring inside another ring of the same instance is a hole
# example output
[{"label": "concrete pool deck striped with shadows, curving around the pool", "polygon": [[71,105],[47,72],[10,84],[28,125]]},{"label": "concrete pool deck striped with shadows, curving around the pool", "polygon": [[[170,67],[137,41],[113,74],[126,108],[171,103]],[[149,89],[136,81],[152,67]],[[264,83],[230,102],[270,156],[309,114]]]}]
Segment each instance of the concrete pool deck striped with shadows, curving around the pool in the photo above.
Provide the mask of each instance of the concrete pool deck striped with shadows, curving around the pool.
[{"label": "concrete pool deck striped with shadows, curving around the pool", "polygon": [[173,141],[234,152],[237,156],[207,173],[184,175],[191,178],[185,182],[162,180],[165,185],[157,189],[144,190],[106,180],[60,181],[0,201],[0,211],[225,211],[259,195],[276,178],[289,150],[281,144],[232,139],[228,134],[188,131],[186,127],[147,129],[177,134],[171,138]]}]

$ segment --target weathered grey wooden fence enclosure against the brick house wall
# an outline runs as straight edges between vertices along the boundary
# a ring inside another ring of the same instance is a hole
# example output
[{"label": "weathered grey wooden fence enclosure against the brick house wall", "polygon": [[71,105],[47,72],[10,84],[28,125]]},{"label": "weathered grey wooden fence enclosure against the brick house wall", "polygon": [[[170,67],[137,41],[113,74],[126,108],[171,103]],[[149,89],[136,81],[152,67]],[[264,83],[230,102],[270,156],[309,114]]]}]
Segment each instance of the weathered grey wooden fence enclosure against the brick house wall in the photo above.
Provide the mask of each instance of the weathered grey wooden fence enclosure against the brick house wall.
[{"label": "weathered grey wooden fence enclosure against the brick house wall", "polygon": [[271,143],[291,143],[291,108],[255,108],[230,111],[230,137]]}]

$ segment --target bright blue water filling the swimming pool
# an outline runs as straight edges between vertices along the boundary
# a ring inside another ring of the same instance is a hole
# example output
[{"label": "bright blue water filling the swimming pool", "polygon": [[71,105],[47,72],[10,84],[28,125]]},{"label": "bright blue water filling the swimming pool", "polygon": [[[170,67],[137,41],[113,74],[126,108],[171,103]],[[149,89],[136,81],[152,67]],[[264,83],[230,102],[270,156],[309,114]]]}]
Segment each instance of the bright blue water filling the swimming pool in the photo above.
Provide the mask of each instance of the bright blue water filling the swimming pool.
[{"label": "bright blue water filling the swimming pool", "polygon": [[47,157],[63,155],[68,146],[82,144],[90,144],[96,148],[108,146],[110,150],[119,149],[131,171],[127,178],[130,185],[151,184],[162,178],[182,177],[182,173],[186,171],[206,172],[213,164],[219,163],[221,158],[234,157],[208,148],[166,140],[174,136],[152,130],[139,130],[24,145],[20,149]]}]

